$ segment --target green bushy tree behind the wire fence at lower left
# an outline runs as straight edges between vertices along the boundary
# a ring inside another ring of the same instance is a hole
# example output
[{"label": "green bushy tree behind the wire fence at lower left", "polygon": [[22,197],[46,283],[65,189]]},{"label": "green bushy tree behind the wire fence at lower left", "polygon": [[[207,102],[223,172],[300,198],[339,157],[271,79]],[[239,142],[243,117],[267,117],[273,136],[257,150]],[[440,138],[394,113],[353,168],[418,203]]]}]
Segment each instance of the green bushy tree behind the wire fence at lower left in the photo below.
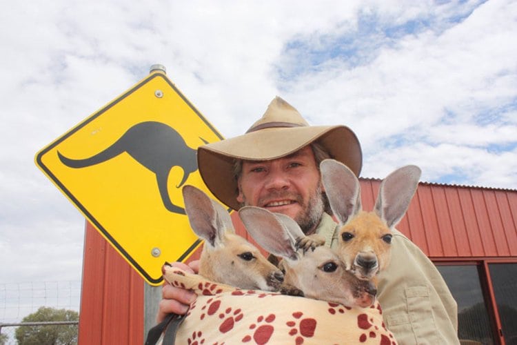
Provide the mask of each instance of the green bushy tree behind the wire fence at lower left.
[{"label": "green bushy tree behind the wire fence at lower left", "polygon": [[[79,313],[42,306],[36,313],[23,317],[22,322],[77,321]],[[19,345],[77,344],[77,325],[20,326],[15,337]]]}]

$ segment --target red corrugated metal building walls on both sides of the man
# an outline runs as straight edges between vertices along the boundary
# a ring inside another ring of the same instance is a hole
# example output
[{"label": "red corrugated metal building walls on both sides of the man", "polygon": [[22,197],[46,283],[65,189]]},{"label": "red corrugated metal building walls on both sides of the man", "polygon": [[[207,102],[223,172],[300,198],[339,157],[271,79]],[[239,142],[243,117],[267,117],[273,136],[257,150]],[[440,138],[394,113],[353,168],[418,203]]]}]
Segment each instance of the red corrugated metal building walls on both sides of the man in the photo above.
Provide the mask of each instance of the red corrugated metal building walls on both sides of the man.
[{"label": "red corrugated metal building walls on both sides of the man", "polygon": [[[361,179],[365,210],[373,208],[380,184]],[[233,218],[245,235],[236,213]],[[397,228],[432,258],[517,257],[517,190],[420,184]],[[143,338],[143,279],[87,224],[79,343],[141,344]]]}]

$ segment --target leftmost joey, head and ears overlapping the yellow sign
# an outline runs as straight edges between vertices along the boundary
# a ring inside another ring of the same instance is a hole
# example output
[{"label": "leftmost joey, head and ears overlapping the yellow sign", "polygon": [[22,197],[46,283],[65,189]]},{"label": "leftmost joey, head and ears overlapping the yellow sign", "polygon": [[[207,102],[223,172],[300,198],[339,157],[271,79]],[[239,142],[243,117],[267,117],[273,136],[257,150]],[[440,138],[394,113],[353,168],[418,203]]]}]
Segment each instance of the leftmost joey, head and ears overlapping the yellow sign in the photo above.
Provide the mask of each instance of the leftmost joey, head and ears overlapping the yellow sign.
[{"label": "leftmost joey, head and ears overlapping the yellow sign", "polygon": [[237,288],[278,290],[283,273],[259,249],[235,234],[232,219],[221,204],[194,186],[183,187],[183,198],[192,230],[205,239],[200,275]]}]

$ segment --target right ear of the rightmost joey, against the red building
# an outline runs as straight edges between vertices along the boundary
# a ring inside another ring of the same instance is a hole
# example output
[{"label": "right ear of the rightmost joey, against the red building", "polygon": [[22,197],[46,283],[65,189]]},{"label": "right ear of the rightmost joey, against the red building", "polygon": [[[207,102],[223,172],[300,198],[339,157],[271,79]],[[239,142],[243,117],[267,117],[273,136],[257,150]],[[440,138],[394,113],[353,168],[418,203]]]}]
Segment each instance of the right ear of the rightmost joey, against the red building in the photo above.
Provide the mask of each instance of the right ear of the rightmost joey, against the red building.
[{"label": "right ear of the rightmost joey, against the red building", "polygon": [[418,187],[420,174],[418,166],[403,166],[383,179],[374,210],[389,228],[404,217]]}]

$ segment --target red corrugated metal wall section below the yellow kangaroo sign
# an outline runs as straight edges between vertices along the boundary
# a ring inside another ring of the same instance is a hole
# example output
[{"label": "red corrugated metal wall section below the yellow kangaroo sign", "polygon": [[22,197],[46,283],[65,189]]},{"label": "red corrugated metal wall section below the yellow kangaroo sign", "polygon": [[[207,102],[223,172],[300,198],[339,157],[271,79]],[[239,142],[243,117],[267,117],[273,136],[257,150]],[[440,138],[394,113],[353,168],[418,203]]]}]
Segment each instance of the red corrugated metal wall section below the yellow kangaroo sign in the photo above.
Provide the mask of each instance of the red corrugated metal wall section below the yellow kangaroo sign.
[{"label": "red corrugated metal wall section below the yellow kangaroo sign", "polygon": [[143,344],[143,279],[89,223],[79,344]]}]

